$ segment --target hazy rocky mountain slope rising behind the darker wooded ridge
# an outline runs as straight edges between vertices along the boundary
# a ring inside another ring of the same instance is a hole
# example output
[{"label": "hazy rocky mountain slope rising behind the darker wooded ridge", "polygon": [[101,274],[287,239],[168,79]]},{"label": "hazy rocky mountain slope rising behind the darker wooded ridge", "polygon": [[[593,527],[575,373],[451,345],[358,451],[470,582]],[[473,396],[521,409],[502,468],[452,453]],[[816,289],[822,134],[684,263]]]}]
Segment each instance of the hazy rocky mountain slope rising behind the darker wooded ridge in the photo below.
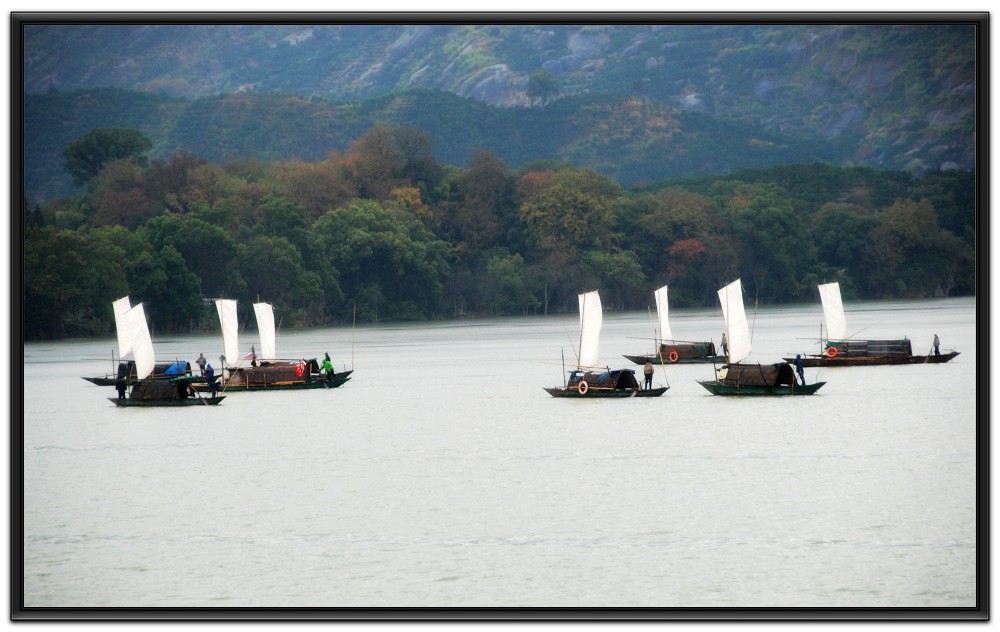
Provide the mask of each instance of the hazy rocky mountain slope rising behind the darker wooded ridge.
[{"label": "hazy rocky mountain slope rising behind the darker wooded ridge", "polygon": [[592,128],[559,146],[574,146],[569,155],[550,153],[585,160],[580,134],[595,159],[623,135],[655,146],[681,116],[699,115],[688,120],[755,129],[765,144],[813,139],[817,159],[833,143],[842,162],[920,173],[975,166],[976,53],[968,24],[32,24],[24,89],[114,87],[201,104],[279,93],[341,111],[430,89],[467,99],[468,113],[486,105],[494,118],[535,122],[556,103],[603,95],[633,106],[588,118]]}]

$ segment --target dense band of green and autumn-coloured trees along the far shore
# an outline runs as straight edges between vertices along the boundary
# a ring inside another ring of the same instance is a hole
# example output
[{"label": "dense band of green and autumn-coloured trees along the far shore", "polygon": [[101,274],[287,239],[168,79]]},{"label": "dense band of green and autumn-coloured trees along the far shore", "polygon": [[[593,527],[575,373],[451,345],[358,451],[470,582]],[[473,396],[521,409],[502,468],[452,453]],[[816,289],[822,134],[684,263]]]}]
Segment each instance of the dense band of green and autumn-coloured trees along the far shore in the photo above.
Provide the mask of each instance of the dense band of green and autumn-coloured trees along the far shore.
[{"label": "dense band of green and autumn-coloured trees along the far shore", "polygon": [[159,332],[216,326],[215,297],[271,302],[284,326],[642,309],[671,288],[710,306],[742,277],[762,303],[973,294],[976,182],[800,164],[625,188],[556,161],[478,151],[439,163],[431,136],[375,126],[317,161],[211,162],[128,128],[68,143],[82,193],[24,204],[25,337],[107,335],[111,301]]}]

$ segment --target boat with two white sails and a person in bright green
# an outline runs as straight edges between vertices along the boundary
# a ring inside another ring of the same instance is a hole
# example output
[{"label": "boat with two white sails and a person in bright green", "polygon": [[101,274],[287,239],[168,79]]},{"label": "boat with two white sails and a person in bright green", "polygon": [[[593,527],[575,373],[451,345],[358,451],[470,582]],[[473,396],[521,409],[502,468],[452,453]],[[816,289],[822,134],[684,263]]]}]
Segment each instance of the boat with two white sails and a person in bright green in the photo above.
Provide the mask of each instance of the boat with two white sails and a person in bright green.
[{"label": "boat with two white sails and a person in bright green", "polygon": [[[255,348],[240,356],[237,303],[232,299],[216,299],[216,311],[222,325],[223,374],[219,388],[229,392],[265,390],[301,390],[336,388],[350,379],[352,370],[325,374],[315,359],[280,359],[276,352],[274,309],[269,303],[254,303],[260,354]],[[231,360],[232,359],[232,360]],[[233,361],[235,360],[235,362]],[[202,388],[202,386],[199,386]]]}]

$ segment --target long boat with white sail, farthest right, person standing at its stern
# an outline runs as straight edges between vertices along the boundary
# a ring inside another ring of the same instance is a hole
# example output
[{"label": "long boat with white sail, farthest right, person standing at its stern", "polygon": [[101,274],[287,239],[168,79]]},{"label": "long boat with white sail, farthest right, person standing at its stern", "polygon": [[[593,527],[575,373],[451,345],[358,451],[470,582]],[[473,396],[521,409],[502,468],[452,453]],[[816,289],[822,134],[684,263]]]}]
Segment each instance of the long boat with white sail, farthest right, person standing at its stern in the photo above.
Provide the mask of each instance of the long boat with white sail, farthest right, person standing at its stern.
[{"label": "long boat with white sail, farthest right, person standing at its stern", "polygon": [[[822,353],[806,354],[802,365],[809,367],[877,366],[883,364],[936,364],[947,362],[959,354],[952,349],[947,353],[913,355],[909,338],[888,340],[857,340],[847,336],[847,317],[840,296],[840,283],[817,286],[823,303],[823,320],[826,338],[820,332]],[[788,360],[788,358],[785,358]]]}]

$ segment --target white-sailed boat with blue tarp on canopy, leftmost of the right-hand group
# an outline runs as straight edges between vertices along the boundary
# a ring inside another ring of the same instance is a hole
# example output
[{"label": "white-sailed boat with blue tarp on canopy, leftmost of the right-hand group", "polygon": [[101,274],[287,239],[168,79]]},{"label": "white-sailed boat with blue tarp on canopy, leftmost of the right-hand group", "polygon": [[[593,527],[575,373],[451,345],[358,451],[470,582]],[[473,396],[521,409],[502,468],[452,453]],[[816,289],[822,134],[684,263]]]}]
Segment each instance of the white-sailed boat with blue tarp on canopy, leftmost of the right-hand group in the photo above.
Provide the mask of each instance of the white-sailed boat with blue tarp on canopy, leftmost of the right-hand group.
[{"label": "white-sailed boat with blue tarp on canopy, leftmost of the right-hand group", "polygon": [[659,397],[668,386],[640,388],[633,369],[599,368],[601,327],[604,315],[601,296],[595,290],[579,295],[580,302],[580,353],[577,366],[569,371],[566,386],[545,388],[553,397],[578,399],[603,397]]}]

